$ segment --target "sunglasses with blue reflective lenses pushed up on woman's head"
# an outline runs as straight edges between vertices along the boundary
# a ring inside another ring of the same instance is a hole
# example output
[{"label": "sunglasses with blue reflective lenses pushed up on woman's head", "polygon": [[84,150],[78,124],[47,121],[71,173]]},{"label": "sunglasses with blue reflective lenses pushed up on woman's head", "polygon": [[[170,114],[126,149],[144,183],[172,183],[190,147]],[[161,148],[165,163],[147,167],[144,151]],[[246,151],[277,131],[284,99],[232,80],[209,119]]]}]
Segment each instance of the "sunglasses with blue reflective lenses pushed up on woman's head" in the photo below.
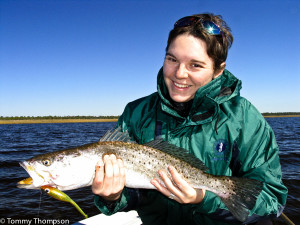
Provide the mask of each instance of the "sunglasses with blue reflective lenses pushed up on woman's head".
[{"label": "sunglasses with blue reflective lenses pushed up on woman's head", "polygon": [[188,27],[200,22],[204,30],[210,35],[223,35],[220,27],[210,20],[204,20],[197,16],[186,16],[179,19],[175,24],[174,28],[177,27]]}]

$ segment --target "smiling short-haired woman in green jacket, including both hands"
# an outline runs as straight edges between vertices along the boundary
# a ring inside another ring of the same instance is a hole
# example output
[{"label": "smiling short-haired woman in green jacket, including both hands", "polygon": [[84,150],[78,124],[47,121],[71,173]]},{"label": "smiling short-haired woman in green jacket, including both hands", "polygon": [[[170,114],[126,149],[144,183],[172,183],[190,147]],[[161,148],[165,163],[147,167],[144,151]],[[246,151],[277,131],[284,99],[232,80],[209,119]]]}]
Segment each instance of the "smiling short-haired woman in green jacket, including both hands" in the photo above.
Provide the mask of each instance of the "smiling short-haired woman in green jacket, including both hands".
[{"label": "smiling short-haired woman in green jacket, including both hands", "polygon": [[[250,224],[280,215],[287,189],[278,146],[262,115],[240,96],[241,81],[225,69],[232,42],[221,16],[179,19],[169,34],[157,92],[130,102],[118,125],[137,143],[164,139],[186,149],[213,175],[264,183],[249,215],[242,216],[240,201],[228,205],[209,188],[193,187],[188,178],[199,175],[183,176],[175,165],[157,168],[159,179],[151,180],[156,191],[124,187],[124,165],[113,156],[96,168],[92,190],[99,210],[111,215],[136,209],[145,225]],[[232,206],[240,207],[230,212]]]}]

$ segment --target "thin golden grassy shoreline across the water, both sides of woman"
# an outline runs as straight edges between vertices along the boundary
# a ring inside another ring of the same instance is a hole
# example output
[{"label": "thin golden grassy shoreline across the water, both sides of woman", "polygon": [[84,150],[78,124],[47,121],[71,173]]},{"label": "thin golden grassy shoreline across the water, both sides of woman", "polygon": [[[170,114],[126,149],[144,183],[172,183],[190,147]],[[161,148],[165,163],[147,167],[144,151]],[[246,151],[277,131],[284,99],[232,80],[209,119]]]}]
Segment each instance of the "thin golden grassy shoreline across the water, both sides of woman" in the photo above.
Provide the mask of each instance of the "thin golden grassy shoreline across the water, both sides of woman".
[{"label": "thin golden grassy shoreline across the water, both sides of woman", "polygon": [[[300,117],[300,115],[270,115],[272,117]],[[117,122],[118,119],[28,119],[28,120],[0,120],[0,124],[38,124],[38,123],[104,123]]]}]

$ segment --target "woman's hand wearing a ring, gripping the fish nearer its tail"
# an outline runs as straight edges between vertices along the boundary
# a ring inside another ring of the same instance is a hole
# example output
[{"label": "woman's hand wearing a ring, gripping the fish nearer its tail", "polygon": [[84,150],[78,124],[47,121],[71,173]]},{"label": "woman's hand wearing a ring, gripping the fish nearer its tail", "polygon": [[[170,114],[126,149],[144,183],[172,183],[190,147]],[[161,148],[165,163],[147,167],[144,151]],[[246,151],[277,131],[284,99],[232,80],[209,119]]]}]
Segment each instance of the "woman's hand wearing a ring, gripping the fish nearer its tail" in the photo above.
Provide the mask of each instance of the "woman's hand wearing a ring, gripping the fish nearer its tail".
[{"label": "woman's hand wearing a ring, gripping the fish nearer its tail", "polygon": [[151,180],[151,184],[153,184],[159,192],[170,199],[184,204],[197,204],[203,200],[206,193],[205,189],[194,189],[182,178],[173,166],[169,166],[168,169],[172,178],[168,176],[166,171],[158,171],[165,186],[160,184],[157,179]]}]

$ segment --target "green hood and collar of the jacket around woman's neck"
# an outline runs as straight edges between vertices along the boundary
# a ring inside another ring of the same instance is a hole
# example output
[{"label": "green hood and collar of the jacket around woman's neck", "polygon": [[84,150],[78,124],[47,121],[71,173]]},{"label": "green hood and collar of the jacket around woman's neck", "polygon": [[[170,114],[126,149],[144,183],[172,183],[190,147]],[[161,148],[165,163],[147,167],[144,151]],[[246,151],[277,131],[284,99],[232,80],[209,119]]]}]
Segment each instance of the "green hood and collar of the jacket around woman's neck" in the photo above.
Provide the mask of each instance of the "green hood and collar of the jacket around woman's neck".
[{"label": "green hood and collar of the jacket around woman's neck", "polygon": [[[241,81],[233,76],[228,70],[200,87],[194,97],[188,118],[192,121],[210,121],[219,113],[219,105],[240,95]],[[162,100],[162,110],[176,117],[181,117],[170,101],[169,92],[163,77],[163,68],[157,76],[157,91]],[[181,117],[182,118],[182,117]]]}]

